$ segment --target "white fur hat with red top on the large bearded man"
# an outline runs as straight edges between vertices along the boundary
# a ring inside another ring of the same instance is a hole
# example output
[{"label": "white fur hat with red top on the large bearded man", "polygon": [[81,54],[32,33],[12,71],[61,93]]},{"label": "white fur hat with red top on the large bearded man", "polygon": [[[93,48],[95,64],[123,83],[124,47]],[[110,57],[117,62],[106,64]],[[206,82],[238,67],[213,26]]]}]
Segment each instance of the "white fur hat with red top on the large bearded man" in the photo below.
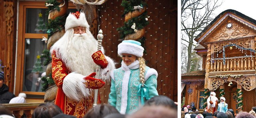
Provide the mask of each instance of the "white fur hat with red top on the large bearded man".
[{"label": "white fur hat with red top on the large bearded man", "polygon": [[83,12],[70,13],[66,19],[65,31],[78,26],[85,27],[86,29],[89,29],[90,27],[88,22],[86,21],[86,18]]}]

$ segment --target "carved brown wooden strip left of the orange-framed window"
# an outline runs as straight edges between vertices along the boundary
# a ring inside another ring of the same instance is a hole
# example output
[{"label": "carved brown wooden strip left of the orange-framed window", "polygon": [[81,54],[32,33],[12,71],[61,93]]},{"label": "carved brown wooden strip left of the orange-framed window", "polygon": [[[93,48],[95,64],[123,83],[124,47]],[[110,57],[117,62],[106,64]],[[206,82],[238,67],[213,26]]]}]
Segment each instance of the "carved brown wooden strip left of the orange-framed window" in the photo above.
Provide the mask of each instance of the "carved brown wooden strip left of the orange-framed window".
[{"label": "carved brown wooden strip left of the orange-framed window", "polygon": [[5,83],[9,86],[11,82],[11,39],[13,39],[13,25],[14,25],[14,12],[13,12],[13,2],[4,2],[4,7],[6,7],[4,15],[5,15],[5,22],[6,22],[6,60],[5,60]]}]

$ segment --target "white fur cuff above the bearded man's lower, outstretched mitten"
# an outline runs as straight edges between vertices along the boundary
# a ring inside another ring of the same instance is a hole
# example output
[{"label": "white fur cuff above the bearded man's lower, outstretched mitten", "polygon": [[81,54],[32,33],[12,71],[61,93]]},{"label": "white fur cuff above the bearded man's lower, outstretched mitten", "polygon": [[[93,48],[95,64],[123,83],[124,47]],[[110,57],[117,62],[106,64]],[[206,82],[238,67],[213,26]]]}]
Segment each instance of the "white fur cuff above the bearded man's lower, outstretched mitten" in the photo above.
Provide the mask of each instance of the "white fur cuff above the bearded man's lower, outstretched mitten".
[{"label": "white fur cuff above the bearded man's lower, outstretched mitten", "polygon": [[71,72],[63,80],[63,92],[72,100],[79,101],[83,97],[90,95],[89,89],[85,87],[83,78],[85,76]]}]

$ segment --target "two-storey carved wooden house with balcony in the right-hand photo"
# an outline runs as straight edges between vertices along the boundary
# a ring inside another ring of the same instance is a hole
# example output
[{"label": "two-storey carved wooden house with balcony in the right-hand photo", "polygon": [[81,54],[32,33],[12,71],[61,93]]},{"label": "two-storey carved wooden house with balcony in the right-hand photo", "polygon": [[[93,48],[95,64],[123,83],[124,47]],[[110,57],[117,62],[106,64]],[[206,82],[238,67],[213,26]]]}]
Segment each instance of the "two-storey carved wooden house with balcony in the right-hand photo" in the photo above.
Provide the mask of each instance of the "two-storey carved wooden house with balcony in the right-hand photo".
[{"label": "two-storey carved wooden house with balcony in the right-hand photo", "polygon": [[[202,70],[182,74],[185,105],[203,110],[207,92],[225,97],[228,109],[249,112],[256,106],[256,20],[235,10],[220,13],[194,39]],[[206,94],[204,94],[206,93]]]}]

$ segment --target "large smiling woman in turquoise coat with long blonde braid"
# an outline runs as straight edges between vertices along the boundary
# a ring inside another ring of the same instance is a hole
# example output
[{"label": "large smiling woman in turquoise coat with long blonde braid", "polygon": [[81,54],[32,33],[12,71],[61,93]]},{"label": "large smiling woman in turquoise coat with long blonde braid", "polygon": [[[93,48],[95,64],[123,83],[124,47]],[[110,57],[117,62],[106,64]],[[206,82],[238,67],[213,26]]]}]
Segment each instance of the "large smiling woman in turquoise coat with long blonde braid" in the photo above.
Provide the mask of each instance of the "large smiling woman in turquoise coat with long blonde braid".
[{"label": "large smiling woman in turquoise coat with long blonde braid", "polygon": [[[121,67],[111,72],[108,104],[121,114],[137,111],[145,100],[158,95],[157,71],[146,66],[140,42],[125,40],[118,45]],[[145,100],[144,100],[145,99]]]}]

